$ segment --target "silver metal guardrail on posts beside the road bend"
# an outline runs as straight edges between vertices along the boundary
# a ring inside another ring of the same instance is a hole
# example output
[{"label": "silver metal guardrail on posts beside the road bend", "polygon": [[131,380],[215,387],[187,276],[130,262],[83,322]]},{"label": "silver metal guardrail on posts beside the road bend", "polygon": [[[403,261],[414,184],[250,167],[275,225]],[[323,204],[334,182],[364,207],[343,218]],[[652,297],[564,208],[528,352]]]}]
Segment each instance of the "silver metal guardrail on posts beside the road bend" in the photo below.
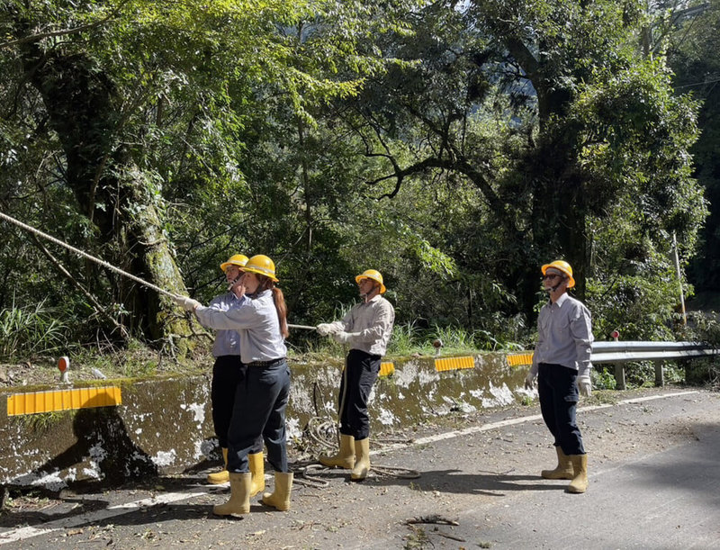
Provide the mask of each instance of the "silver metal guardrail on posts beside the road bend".
[{"label": "silver metal guardrail on posts beside the road bend", "polygon": [[625,390],[625,364],[631,361],[653,361],[655,364],[655,385],[665,383],[662,363],[679,359],[712,357],[720,355],[720,349],[702,342],[642,342],[612,341],[593,342],[590,361],[593,364],[615,365],[615,380],[618,390]]}]

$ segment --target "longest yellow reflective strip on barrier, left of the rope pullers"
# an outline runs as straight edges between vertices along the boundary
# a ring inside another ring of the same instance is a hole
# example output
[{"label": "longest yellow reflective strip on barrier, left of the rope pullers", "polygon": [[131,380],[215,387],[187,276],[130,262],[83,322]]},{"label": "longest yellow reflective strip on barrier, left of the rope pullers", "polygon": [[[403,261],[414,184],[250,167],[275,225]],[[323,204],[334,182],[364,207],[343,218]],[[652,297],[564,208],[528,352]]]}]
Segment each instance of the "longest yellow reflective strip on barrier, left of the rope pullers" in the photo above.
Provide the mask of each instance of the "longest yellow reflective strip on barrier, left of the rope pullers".
[{"label": "longest yellow reflective strip on barrier, left of the rope pullers", "polygon": [[50,392],[14,393],[7,398],[7,416],[55,410],[91,409],[122,404],[120,388],[76,388]]}]

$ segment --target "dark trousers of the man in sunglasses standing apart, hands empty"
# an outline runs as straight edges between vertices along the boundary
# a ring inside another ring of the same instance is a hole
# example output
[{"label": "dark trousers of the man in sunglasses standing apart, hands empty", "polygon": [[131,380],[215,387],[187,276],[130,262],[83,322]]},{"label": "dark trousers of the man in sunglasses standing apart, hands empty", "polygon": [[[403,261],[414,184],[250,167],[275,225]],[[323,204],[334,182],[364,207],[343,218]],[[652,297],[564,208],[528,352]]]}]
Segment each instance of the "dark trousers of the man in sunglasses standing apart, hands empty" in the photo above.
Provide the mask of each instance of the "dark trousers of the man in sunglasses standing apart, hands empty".
[{"label": "dark trousers of the man in sunglasses standing apart, hands empty", "polygon": [[565,455],[584,455],[585,447],[582,446],[582,435],[575,418],[580,399],[578,371],[549,363],[538,366],[540,412],[545,426],[555,438],[554,445],[560,446]]}]

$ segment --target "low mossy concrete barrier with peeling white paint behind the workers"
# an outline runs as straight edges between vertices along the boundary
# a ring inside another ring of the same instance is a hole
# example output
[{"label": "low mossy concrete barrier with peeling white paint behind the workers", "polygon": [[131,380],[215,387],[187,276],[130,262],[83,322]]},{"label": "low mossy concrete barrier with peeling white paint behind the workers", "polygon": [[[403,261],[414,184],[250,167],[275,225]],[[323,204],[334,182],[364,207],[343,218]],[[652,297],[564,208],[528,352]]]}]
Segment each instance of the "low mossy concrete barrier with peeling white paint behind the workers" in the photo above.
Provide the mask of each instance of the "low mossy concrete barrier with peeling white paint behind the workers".
[{"label": "low mossy concrete barrier with peeling white paint behind the workers", "polygon": [[[394,373],[383,376],[371,396],[374,433],[455,411],[507,405],[527,395],[526,368],[510,366],[505,354],[482,354],[444,366],[436,357],[386,361],[392,361]],[[291,359],[289,364],[293,382],[287,425],[293,446],[302,441],[303,428],[313,417],[336,418],[342,363]],[[455,364],[462,365],[447,367]],[[76,392],[70,396],[70,390]],[[205,463],[219,456],[212,430],[210,374],[103,380],[69,389],[12,388],[0,398],[0,485],[58,491],[79,480],[113,483],[180,473],[210,466]],[[108,404],[109,399],[117,404]]]}]

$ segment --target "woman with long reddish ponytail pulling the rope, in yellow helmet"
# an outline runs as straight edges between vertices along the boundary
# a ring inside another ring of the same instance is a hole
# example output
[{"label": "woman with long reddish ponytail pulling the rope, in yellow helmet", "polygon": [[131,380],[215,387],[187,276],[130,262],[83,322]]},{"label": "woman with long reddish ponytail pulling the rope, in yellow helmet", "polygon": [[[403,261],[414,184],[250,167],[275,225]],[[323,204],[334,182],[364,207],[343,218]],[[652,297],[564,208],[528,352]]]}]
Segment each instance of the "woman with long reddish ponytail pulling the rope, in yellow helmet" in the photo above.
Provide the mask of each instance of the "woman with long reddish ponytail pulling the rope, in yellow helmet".
[{"label": "woman with long reddish ponytail pulling the rope, in yellow helmet", "polygon": [[257,255],[247,260],[243,275],[231,287],[238,298],[250,301],[217,311],[190,298],[178,298],[185,310],[194,311],[205,327],[234,329],[240,336],[240,356],[247,365],[244,383],[238,386],[228,430],[230,499],[215,506],[220,516],[250,511],[251,474],[248,455],[263,437],[267,462],[275,470],[275,491],[263,493],[262,502],[279,510],[290,509],[293,473],[287,462],[285,408],[290,395],[290,369],[284,338],[288,335],[283,292],[275,286],[273,260]]}]

